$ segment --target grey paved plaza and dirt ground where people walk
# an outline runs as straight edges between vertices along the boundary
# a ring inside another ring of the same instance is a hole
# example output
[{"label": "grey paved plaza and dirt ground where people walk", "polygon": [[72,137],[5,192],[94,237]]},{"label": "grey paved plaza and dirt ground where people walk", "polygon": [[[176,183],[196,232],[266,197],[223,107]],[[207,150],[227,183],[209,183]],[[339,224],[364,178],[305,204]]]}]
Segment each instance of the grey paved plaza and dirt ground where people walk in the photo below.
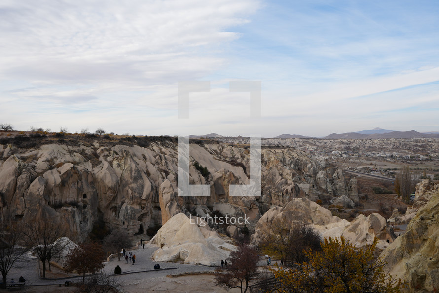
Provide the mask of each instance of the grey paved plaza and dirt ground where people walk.
[{"label": "grey paved plaza and dirt ground where people walk", "polygon": [[[165,263],[160,262],[161,268],[173,268],[169,270],[153,269],[155,262],[151,260],[152,253],[157,249],[155,246],[149,244],[145,245],[145,249],[138,249],[128,252],[136,254],[136,262],[125,263],[125,260],[118,261],[117,258],[105,263],[104,271],[107,273],[114,273],[114,268],[119,265],[122,269],[122,275],[118,276],[123,281],[124,291],[129,293],[144,293],[144,292],[178,292],[178,293],[238,293],[240,290],[233,289],[226,291],[225,289],[215,285],[215,280],[212,272],[217,267],[208,267],[202,265],[187,265],[182,263]],[[25,265],[20,268],[13,268],[8,274],[10,278],[18,279],[20,276],[26,278],[26,283],[31,285],[26,287],[27,293],[58,293],[58,292],[73,292],[75,287],[65,287],[66,280],[78,281],[80,277],[73,277],[70,279],[54,280],[41,279],[38,276],[37,259],[28,258]],[[53,268],[53,267],[52,267]],[[55,274],[58,275],[56,269]],[[203,274],[200,274],[203,273]],[[207,274],[204,274],[207,273]],[[193,274],[183,275],[181,274]],[[172,277],[172,276],[175,277]],[[59,285],[62,284],[61,288]],[[0,292],[3,292],[0,290]],[[7,292],[4,290],[4,292]]]}]

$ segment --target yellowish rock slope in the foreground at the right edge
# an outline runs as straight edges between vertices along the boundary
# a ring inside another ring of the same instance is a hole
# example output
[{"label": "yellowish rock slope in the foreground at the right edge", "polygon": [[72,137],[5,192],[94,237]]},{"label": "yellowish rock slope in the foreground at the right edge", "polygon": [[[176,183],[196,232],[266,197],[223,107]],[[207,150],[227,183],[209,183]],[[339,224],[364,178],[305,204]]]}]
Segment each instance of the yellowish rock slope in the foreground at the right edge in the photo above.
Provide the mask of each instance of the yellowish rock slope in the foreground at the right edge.
[{"label": "yellowish rock slope in the foreground at the right edge", "polygon": [[409,285],[409,292],[439,289],[439,189],[428,180],[417,185],[416,196],[428,198],[399,236],[381,255],[386,271]]}]

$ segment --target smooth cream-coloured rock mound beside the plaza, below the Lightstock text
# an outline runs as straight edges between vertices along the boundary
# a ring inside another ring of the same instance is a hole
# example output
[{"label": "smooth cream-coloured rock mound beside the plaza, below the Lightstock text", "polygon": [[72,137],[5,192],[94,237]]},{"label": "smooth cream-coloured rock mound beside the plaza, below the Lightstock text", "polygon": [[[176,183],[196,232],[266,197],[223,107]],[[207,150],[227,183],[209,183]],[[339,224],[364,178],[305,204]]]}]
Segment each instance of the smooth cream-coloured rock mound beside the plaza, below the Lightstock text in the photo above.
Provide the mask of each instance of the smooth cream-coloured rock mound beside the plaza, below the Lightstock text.
[{"label": "smooth cream-coloured rock mound beside the plaza, below the Lightstock text", "polygon": [[216,266],[226,259],[234,246],[224,242],[208,226],[199,227],[197,222],[201,223],[199,218],[189,219],[183,213],[169,219],[150,241],[159,247],[153,260]]}]

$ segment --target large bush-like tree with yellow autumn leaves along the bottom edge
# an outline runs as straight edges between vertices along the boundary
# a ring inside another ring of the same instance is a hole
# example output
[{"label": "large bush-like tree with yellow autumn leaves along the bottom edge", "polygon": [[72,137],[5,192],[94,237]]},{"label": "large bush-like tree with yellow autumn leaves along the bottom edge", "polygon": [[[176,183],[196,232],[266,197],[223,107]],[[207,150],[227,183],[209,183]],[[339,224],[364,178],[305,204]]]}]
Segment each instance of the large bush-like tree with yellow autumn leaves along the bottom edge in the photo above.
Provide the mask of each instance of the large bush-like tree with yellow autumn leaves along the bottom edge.
[{"label": "large bush-like tree with yellow autumn leaves along the bottom edge", "polygon": [[303,271],[274,270],[281,281],[280,293],[399,293],[401,282],[384,271],[375,260],[372,245],[357,248],[344,237],[325,239],[322,251],[306,251]]}]

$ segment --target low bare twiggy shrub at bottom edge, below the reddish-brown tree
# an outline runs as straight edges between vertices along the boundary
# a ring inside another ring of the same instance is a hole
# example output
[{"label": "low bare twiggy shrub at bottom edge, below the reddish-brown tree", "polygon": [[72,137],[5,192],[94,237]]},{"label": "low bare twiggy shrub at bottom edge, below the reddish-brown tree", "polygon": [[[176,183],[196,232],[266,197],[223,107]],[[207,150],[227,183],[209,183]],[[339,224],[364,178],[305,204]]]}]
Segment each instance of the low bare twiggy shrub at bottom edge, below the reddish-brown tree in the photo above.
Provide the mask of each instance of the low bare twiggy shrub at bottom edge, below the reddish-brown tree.
[{"label": "low bare twiggy shrub at bottom edge, below the reddish-brown tree", "polygon": [[123,283],[117,277],[101,272],[85,278],[84,284],[77,287],[77,293],[114,293],[122,292]]}]

